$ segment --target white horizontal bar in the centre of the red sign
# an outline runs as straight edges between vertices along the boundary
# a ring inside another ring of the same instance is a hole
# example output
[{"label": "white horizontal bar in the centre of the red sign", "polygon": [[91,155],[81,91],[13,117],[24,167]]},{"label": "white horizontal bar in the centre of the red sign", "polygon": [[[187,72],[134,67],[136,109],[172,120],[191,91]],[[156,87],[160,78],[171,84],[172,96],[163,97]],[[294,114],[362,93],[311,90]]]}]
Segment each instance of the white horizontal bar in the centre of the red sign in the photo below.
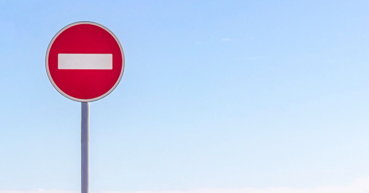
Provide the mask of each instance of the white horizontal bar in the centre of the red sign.
[{"label": "white horizontal bar in the centre of the red sign", "polygon": [[113,54],[58,54],[58,69],[111,70]]}]

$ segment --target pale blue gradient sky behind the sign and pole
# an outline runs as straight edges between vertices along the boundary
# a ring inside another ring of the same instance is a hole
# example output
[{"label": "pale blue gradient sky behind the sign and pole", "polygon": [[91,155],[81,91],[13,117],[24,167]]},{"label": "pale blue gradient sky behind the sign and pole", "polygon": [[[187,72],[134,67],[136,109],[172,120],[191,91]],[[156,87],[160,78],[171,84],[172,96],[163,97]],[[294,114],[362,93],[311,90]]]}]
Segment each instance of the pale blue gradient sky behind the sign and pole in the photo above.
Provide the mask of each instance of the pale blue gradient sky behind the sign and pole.
[{"label": "pale blue gradient sky behind the sign and pole", "polygon": [[49,82],[76,21],[120,39],[91,103],[91,190],[339,186],[369,176],[368,1],[0,1],[0,190],[80,189],[80,103]]}]

